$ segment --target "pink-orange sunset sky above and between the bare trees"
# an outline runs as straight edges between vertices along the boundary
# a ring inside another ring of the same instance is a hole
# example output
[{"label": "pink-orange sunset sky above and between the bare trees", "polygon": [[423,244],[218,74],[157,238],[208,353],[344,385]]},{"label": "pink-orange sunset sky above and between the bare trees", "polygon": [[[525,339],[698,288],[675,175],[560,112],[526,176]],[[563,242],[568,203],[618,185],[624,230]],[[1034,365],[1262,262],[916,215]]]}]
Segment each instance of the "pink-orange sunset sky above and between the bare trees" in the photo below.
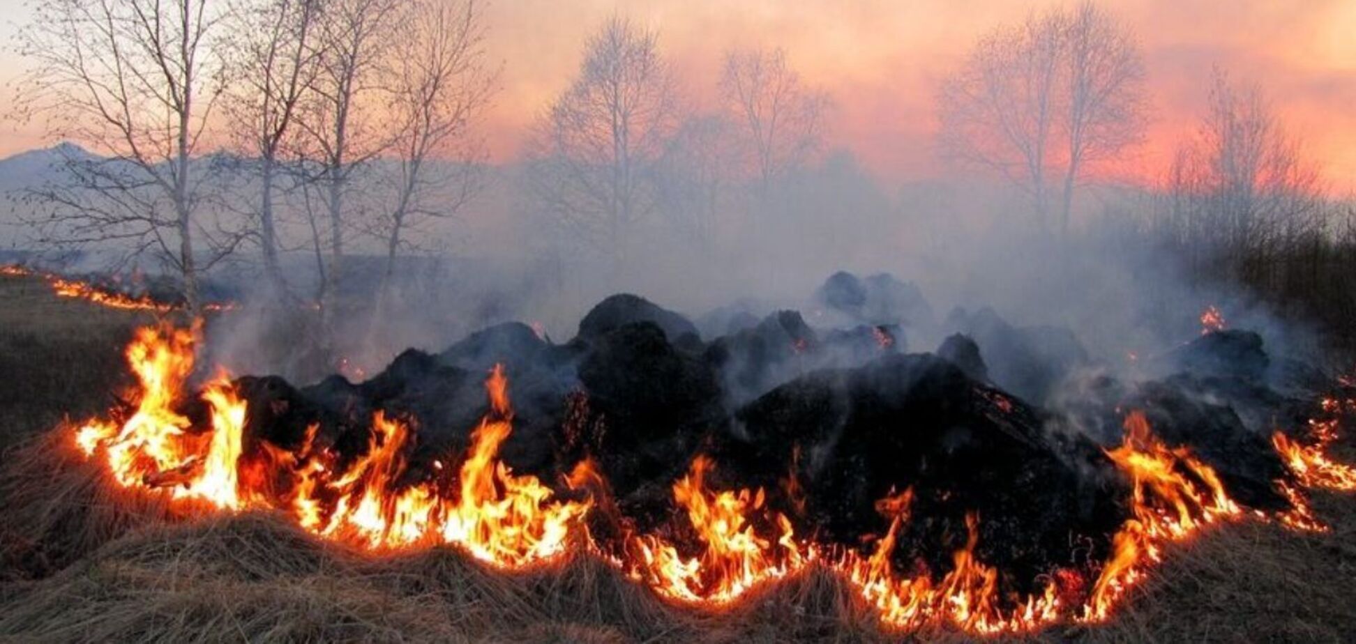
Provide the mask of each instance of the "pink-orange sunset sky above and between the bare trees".
[{"label": "pink-orange sunset sky above and between the bare trees", "polygon": [[[23,69],[11,37],[26,0],[0,0],[0,114]],[[934,88],[995,26],[1052,3],[1012,0],[498,0],[487,9],[488,54],[502,65],[485,115],[495,161],[511,161],[532,122],[574,76],[584,38],[614,12],[660,34],[694,103],[711,103],[723,52],[784,47],[801,77],[834,100],[829,142],[850,149],[885,183],[938,172]],[[1256,81],[1303,140],[1334,193],[1356,191],[1356,1],[1104,1],[1144,53],[1153,123],[1125,167],[1149,182],[1195,130],[1215,66]],[[0,156],[50,144],[35,126],[0,122]]]}]

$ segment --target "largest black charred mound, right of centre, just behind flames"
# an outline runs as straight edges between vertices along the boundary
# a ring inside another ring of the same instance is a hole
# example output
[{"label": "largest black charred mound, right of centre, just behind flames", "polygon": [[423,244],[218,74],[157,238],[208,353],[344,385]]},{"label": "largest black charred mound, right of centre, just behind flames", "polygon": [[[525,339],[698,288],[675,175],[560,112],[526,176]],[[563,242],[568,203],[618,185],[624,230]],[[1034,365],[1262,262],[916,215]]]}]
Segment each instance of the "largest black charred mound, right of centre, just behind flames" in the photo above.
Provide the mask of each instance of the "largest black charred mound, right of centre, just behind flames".
[{"label": "largest black charred mound, right of centre, just behind flames", "polygon": [[822,541],[883,536],[891,517],[877,502],[911,488],[902,569],[945,571],[974,512],[978,555],[1021,587],[1054,563],[1078,564],[1071,538],[1105,553],[1124,521],[1127,489],[1092,442],[1047,434],[1039,411],[934,355],[815,371],[736,420],[717,462],[773,491]]}]

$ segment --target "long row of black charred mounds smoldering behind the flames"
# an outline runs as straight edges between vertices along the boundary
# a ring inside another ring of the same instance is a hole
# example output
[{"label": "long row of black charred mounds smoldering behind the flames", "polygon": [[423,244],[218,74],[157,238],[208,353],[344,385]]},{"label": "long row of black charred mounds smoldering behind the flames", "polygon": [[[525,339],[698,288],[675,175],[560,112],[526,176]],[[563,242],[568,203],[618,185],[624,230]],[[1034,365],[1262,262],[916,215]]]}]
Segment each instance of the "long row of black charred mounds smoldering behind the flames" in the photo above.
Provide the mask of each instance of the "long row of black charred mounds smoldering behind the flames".
[{"label": "long row of black charred mounds smoldering behind the flames", "polygon": [[[704,334],[620,294],[565,343],[509,323],[439,354],[408,350],[363,382],[239,378],[244,460],[312,439],[358,457],[382,411],[414,427],[401,479],[431,479],[471,445],[485,374],[503,365],[514,430],[500,458],[563,496],[571,468],[595,462],[613,510],[593,530],[605,550],[635,533],[693,541],[671,489],[704,456],[716,487],[763,489],[797,536],[833,548],[869,550],[892,522],[881,499],[907,489],[896,569],[946,571],[978,517],[975,555],[1003,588],[1032,592],[1055,569],[1094,579],[1131,518],[1130,481],[1106,451],[1127,409],[1199,454],[1238,503],[1277,511],[1276,483],[1291,475],[1271,431],[1302,427],[1323,386],[1248,331],[1203,335],[1121,380],[1067,329],[1013,327],[989,309],[937,321],[917,287],[888,275],[837,274],[814,301],[814,324],[731,308],[704,319]],[[945,340],[910,353],[915,334]]]}]

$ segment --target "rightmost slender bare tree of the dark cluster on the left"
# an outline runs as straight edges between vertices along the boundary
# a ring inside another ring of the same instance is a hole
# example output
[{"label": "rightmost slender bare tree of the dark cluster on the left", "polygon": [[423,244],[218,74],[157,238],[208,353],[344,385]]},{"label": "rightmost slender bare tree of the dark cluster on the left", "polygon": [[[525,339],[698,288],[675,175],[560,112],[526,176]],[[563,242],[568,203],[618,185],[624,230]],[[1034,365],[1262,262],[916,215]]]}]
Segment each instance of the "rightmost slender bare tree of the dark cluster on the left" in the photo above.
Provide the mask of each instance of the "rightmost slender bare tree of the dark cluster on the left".
[{"label": "rightmost slender bare tree of the dark cluster on the left", "polygon": [[395,205],[374,225],[386,252],[378,310],[405,235],[454,216],[479,193],[483,152],[471,125],[495,81],[476,0],[415,0],[411,8],[393,53]]}]

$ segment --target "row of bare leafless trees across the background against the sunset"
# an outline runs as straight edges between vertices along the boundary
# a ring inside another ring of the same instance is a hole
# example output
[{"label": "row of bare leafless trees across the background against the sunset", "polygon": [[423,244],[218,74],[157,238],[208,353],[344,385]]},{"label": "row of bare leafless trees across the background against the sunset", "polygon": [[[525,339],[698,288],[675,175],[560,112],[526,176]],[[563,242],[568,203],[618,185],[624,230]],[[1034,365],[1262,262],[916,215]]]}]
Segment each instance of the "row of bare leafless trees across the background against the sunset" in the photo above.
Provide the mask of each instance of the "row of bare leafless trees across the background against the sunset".
[{"label": "row of bare leafless trees across the background against the sunset", "polygon": [[[243,254],[296,297],[279,255],[305,251],[306,297],[331,310],[355,240],[376,240],[380,309],[418,230],[484,186],[479,117],[499,77],[485,38],[480,0],[39,0],[18,37],[20,113],[94,155],[26,193],[35,228],[155,254],[194,309],[202,273]],[[727,52],[713,85],[715,104],[692,100],[658,31],[606,20],[521,152],[526,214],[618,268],[655,222],[698,249],[731,213],[776,226],[791,178],[822,159],[833,102],[776,47]],[[1026,197],[1010,214],[1064,240],[1075,195],[1153,118],[1135,34],[1090,1],[980,37],[936,114],[944,159],[1010,182]],[[1280,289],[1296,279],[1280,266],[1315,273],[1296,254],[1338,236],[1299,142],[1223,72],[1151,195],[1146,229],[1201,275]]]}]

